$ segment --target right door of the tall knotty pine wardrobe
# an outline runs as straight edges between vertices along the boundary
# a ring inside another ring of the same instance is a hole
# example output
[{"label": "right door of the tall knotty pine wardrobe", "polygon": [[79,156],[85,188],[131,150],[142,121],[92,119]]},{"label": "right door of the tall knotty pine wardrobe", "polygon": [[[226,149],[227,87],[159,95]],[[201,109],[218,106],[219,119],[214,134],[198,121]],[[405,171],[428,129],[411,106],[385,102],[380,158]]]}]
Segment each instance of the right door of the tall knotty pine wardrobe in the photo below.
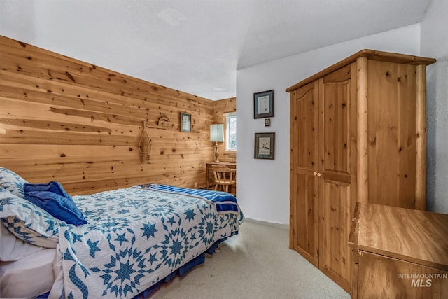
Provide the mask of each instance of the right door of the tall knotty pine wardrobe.
[{"label": "right door of the tall knotty pine wardrobe", "polygon": [[349,64],[319,80],[319,268],[348,292],[352,277],[348,240],[356,194],[352,178],[356,175],[356,153],[352,153],[352,141],[356,140],[352,110],[355,69]]}]

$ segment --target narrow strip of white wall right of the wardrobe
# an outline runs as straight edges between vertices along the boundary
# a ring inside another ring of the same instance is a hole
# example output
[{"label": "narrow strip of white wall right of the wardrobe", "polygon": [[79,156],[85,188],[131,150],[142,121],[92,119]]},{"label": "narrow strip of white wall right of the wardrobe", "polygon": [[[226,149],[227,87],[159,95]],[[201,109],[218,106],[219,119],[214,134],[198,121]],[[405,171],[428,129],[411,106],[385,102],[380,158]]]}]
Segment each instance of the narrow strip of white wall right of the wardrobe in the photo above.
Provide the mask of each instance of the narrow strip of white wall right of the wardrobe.
[{"label": "narrow strip of white wall right of the wardrobe", "polygon": [[448,1],[433,0],[421,21],[421,55],[434,57],[427,68],[428,205],[448,214]]}]

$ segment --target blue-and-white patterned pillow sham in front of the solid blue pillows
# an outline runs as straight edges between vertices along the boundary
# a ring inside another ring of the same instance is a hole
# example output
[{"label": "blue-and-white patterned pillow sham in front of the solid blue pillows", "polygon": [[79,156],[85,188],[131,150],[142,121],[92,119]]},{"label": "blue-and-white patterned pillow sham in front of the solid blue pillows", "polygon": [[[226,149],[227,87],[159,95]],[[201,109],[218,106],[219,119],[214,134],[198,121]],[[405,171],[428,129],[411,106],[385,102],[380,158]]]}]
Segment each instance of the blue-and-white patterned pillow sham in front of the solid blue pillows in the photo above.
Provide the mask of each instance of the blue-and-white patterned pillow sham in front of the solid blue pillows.
[{"label": "blue-and-white patterned pillow sham in front of the solid blue pillows", "polygon": [[72,226],[5,189],[0,189],[0,218],[15,237],[48,248],[57,246],[61,226]]}]

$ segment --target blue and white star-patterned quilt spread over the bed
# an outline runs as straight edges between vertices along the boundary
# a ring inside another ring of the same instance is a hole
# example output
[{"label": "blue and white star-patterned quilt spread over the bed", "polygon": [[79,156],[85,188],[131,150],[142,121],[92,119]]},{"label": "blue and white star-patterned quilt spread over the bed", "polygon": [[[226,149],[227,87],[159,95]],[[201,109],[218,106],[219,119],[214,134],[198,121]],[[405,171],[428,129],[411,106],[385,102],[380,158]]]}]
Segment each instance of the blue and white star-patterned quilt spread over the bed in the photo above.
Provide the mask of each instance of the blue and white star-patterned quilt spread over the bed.
[{"label": "blue and white star-patterned quilt spread over the bed", "polygon": [[[241,211],[153,188],[74,196],[87,224],[59,229],[66,298],[133,298],[239,230]],[[220,208],[221,209],[221,208]]]}]

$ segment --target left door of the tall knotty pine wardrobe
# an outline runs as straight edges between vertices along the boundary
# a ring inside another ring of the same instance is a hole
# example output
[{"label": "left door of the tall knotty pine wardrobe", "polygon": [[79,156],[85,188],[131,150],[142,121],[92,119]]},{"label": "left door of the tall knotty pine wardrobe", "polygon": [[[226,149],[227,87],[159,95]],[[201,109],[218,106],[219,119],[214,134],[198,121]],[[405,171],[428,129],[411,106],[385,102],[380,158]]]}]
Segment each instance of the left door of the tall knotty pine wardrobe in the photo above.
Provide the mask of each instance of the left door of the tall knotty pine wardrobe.
[{"label": "left door of the tall knotty pine wardrobe", "polygon": [[290,99],[290,248],[318,267],[318,90],[311,82]]}]

